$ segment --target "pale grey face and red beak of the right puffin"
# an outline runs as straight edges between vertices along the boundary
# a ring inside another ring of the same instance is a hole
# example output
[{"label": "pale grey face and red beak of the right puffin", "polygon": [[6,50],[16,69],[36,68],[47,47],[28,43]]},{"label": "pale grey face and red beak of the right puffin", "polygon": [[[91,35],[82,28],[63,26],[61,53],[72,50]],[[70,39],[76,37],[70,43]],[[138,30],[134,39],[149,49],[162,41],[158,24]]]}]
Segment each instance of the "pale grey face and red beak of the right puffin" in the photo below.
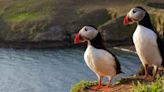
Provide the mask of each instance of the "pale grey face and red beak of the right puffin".
[{"label": "pale grey face and red beak of the right puffin", "polygon": [[124,25],[133,24],[141,21],[146,14],[146,11],[141,8],[132,8],[124,18]]}]

